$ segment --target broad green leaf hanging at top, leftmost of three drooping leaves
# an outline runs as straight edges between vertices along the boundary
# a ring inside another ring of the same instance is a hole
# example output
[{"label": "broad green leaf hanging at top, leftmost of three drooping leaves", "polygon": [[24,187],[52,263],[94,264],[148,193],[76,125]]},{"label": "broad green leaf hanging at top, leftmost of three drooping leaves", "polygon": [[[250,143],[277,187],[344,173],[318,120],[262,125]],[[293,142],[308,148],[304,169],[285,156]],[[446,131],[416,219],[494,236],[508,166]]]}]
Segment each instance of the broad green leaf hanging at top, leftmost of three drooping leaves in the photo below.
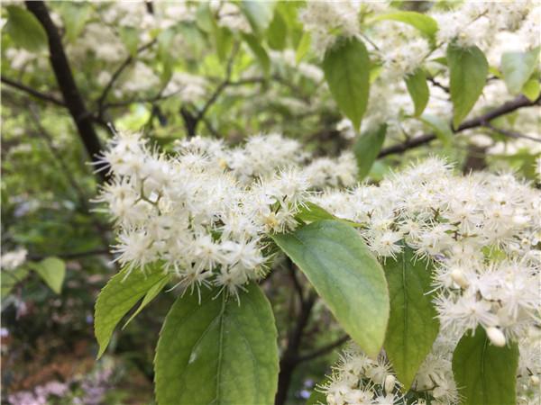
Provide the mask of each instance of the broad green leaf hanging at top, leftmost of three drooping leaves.
[{"label": "broad green leaf hanging at top, leftmost of three drooping leaves", "polygon": [[323,59],[326,82],[338,108],[358,130],[368,103],[370,58],[361,40],[341,38]]}]

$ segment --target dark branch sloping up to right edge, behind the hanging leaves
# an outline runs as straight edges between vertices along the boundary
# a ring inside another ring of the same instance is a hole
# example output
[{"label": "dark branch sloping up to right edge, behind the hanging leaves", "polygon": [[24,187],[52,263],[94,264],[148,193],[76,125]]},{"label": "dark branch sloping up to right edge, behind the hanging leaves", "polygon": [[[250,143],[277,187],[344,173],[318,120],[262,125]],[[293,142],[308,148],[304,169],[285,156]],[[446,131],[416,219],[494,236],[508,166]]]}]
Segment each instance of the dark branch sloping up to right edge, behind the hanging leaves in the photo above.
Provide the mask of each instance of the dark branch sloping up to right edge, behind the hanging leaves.
[{"label": "dark branch sloping up to right edge, behind the hanging leaves", "polygon": [[[541,97],[537,98],[536,101],[532,102],[528,100],[527,97],[525,97],[524,95],[519,95],[514,100],[503,103],[502,105],[500,105],[500,107],[495,108],[490,112],[487,112],[479,117],[472,118],[471,120],[463,121],[463,123],[457,129],[453,130],[453,132],[459,133],[463,130],[470,130],[472,128],[484,126],[487,122],[490,122],[495,118],[500,117],[501,115],[509,114],[509,112],[514,112],[523,107],[531,107],[533,105],[538,105],[540,101]],[[397,153],[403,153],[408,149],[418,148],[422,145],[425,145],[426,143],[431,142],[434,139],[436,139],[435,133],[427,133],[425,135],[418,136],[417,138],[409,139],[404,143],[381,149],[378,158],[386,157]]]}]

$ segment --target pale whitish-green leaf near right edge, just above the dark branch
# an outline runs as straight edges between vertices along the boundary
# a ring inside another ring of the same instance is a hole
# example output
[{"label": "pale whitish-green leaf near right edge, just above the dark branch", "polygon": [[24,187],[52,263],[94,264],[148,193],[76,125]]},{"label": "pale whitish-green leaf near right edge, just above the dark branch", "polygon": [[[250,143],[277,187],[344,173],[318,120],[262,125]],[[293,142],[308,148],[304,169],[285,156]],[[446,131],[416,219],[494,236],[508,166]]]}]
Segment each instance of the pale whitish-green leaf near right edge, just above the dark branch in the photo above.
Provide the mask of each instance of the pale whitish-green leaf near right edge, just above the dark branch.
[{"label": "pale whitish-green leaf near right edge, just above the dark branch", "polygon": [[527,52],[505,52],[500,69],[510,94],[519,94],[534,70],[539,58],[539,47]]}]

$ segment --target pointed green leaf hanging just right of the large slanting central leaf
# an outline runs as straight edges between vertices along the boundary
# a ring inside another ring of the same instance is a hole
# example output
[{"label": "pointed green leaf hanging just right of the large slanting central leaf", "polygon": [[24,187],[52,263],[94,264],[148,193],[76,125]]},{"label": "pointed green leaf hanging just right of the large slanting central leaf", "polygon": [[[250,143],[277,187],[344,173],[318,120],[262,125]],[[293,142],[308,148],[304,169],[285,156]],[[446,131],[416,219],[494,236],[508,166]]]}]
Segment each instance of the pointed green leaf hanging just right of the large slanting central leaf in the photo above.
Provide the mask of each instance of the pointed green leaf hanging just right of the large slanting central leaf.
[{"label": "pointed green leaf hanging just right of the large slanting central leaf", "polygon": [[439,331],[436,309],[427,294],[432,266],[405,247],[396,260],[388,258],[383,267],[390,296],[385,353],[407,392]]}]

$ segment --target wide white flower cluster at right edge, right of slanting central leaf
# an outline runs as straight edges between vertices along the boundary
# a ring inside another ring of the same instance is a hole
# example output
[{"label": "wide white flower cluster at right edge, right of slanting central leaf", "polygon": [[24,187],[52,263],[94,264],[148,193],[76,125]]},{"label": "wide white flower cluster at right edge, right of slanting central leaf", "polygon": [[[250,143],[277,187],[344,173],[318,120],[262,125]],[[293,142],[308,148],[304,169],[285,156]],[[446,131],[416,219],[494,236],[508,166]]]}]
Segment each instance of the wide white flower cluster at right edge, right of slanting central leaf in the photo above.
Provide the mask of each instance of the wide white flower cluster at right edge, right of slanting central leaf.
[{"label": "wide white flower cluster at right edge, right of slanting central leaf", "polygon": [[314,202],[360,231],[379,257],[405,240],[436,262],[436,305],[444,329],[481,325],[505,345],[522,337],[541,308],[541,193],[513,175],[453,175],[436,158],[379,185],[329,191]]}]

